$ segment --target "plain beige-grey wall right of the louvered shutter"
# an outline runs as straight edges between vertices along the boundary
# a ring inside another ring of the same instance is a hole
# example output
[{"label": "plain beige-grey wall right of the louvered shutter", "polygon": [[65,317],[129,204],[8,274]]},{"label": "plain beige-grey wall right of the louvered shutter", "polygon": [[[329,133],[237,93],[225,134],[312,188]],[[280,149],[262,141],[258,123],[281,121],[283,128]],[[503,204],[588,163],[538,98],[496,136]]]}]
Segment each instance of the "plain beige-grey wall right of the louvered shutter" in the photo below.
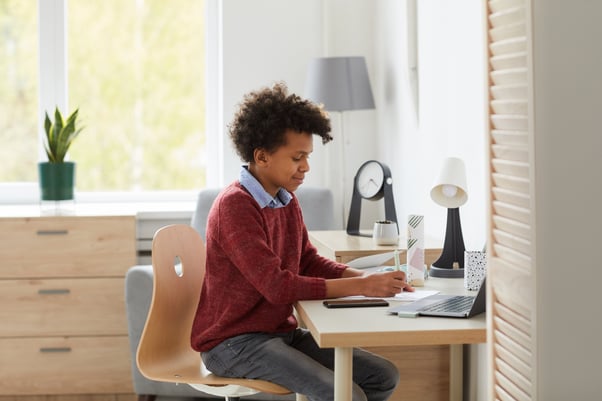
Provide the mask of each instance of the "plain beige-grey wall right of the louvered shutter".
[{"label": "plain beige-grey wall right of the louvered shutter", "polygon": [[540,400],[602,393],[602,2],[533,1]]}]

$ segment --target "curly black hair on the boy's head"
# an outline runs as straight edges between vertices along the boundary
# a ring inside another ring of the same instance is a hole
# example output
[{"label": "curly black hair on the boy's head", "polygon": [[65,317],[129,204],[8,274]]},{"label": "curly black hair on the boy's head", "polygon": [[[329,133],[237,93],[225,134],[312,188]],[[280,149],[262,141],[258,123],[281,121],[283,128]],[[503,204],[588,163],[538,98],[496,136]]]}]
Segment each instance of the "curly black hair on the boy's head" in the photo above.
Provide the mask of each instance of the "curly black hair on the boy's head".
[{"label": "curly black hair on the boy's head", "polygon": [[323,144],[332,140],[326,111],[298,95],[289,95],[282,82],[245,95],[229,126],[236,152],[245,162],[253,161],[255,149],[273,152],[284,145],[287,130],[319,135]]}]

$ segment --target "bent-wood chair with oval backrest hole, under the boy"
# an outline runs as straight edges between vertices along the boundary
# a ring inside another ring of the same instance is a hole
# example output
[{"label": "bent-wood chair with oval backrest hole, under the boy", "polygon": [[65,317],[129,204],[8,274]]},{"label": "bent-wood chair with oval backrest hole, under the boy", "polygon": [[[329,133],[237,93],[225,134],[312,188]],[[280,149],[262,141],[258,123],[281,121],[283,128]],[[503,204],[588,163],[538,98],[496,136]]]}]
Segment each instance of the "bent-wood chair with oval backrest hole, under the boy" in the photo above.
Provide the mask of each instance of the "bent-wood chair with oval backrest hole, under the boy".
[{"label": "bent-wood chair with oval backrest hole, under the boy", "polygon": [[216,376],[191,348],[190,331],[205,278],[205,245],[192,227],[175,224],[159,229],[153,239],[152,261],[153,298],[136,353],[145,377],[186,383],[226,400],[260,391],[291,393],[264,380]]}]

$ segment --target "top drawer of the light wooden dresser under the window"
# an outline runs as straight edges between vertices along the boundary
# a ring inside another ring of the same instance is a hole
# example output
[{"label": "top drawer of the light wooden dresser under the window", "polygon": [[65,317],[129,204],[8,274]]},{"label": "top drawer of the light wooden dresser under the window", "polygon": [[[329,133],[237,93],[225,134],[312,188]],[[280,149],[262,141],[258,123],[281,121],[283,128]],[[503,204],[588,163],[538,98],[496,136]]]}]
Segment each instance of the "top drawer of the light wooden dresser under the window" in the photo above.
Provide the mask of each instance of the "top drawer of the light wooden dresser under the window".
[{"label": "top drawer of the light wooden dresser under the window", "polygon": [[124,276],[136,264],[134,216],[0,220],[0,277]]}]

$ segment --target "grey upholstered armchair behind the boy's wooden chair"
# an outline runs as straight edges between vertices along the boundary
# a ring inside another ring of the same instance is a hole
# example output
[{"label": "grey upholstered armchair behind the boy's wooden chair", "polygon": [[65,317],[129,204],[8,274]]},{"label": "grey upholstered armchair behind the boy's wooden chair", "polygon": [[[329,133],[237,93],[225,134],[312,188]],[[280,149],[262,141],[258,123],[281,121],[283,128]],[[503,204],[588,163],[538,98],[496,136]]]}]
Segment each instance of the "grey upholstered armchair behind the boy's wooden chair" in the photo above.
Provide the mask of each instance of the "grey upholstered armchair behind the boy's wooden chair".
[{"label": "grey upholstered armchair behind the boy's wooden chair", "polygon": [[[193,213],[191,225],[205,238],[207,214],[219,189],[205,189],[199,193],[197,207]],[[332,192],[326,188],[300,187],[295,194],[299,199],[305,225],[308,230],[335,230],[334,200]],[[144,329],[146,317],[153,293],[153,269],[150,265],[130,268],[125,278],[125,301],[132,362],[132,381],[134,391],[140,401],[163,398],[169,401],[180,399],[219,399],[205,395],[187,385],[148,380],[136,366],[136,350]],[[245,397],[246,400],[294,400],[294,394],[287,396],[258,393]]]}]

